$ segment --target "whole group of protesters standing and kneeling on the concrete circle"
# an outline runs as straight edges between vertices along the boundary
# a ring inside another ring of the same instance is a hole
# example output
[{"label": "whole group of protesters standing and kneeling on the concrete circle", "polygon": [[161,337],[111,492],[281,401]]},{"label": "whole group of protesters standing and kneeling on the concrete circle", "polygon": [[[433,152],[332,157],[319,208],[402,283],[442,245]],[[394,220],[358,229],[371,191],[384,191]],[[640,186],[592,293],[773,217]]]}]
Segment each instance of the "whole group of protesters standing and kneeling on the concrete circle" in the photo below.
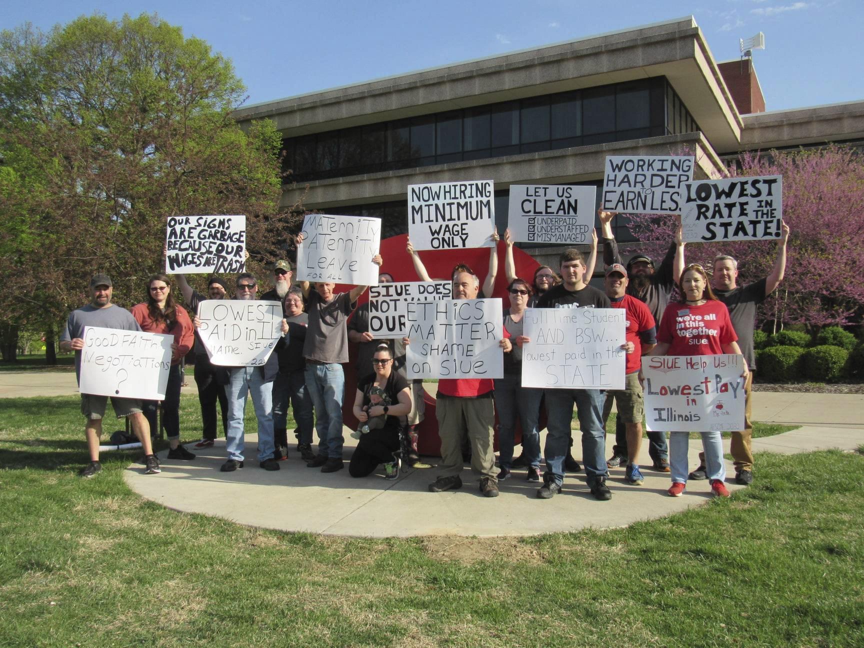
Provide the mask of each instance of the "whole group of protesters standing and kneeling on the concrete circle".
[{"label": "whole group of protesters standing and kneeling on the concrete circle", "polygon": [[[550,499],[560,492],[566,473],[582,466],[575,461],[572,417],[574,404],[581,431],[582,464],[588,488],[594,498],[608,500],[609,469],[625,467],[626,483],[639,486],[644,476],[639,456],[643,437],[643,389],[641,359],[645,355],[713,355],[734,353],[743,357],[742,380],[745,391],[743,429],[732,433],[731,453],[735,482],[746,485],[753,480],[751,452],[751,388],[756,369],[753,353],[753,328],[756,308],[777,288],[785,270],[787,226],[782,226],[772,273],[759,281],[740,286],[733,257],[714,260],[710,276],[699,264],[685,264],[685,243],[680,226],[669,251],[658,266],[644,254],[636,254],[626,264],[619,255],[611,221],[614,214],[599,213],[600,237],[594,233],[591,254],[566,249],[556,268],[540,265],[532,277],[517,276],[513,260],[513,241],[505,232],[505,274],[509,308],[504,311],[499,346],[504,353],[501,378],[442,378],[436,394],[436,417],[441,437],[441,461],[432,492],[461,488],[464,464],[470,461],[480,479],[480,492],[486,497],[499,494],[500,482],[511,479],[514,471],[525,471],[525,480],[537,482],[537,497]],[[497,233],[494,236],[497,241]],[[604,289],[588,285],[594,274],[598,244],[602,245]],[[302,235],[295,238],[302,245]],[[408,242],[417,276],[431,278]],[[376,254],[372,263],[383,259]],[[497,245],[490,249],[489,270],[480,276],[465,264],[454,267],[452,298],[477,299],[492,295],[498,272]],[[161,472],[153,453],[151,434],[159,424],[157,411],[168,437],[168,460],[192,461],[195,454],[181,444],[180,392],[183,382],[181,360],[194,356],[194,380],[198,387],[203,434],[194,448],[213,447],[218,431],[217,406],[226,437],[223,472],[245,466],[244,416],[251,396],[257,419],[257,461],[264,470],[279,470],[289,456],[288,410],[296,425],[296,452],[307,467],[334,473],[344,467],[342,404],[346,397],[343,366],[349,361],[349,342],[358,345],[354,371],[357,391],[353,395],[353,415],[359,426],[353,432],[358,440],[349,462],[353,477],[365,477],[382,467],[384,478],[395,480],[405,467],[429,467],[418,453],[417,426],[424,416],[421,379],[406,376],[406,347],[410,338],[373,339],[369,331],[368,305],[358,308],[367,289],[355,286],[334,293],[334,283],[292,281],[288,260],[274,264],[274,287],[258,293],[255,276],[244,272],[236,276],[233,295],[229,283],[210,276],[206,294],[192,288],[184,275],[177,283],[189,312],[173,295],[169,276],[154,274],[147,283],[147,300],[131,311],[112,303],[111,277],[97,274],[90,283],[91,302],[69,315],[60,337],[60,348],[76,352],[76,372],[80,377],[81,350],[85,327],[105,327],[144,331],[173,336],[168,384],[161,403],[135,398],[111,397],[118,418],[127,417],[130,428],[141,442],[145,473]],[[388,273],[378,276],[379,283],[392,282]],[[677,296],[676,296],[677,293]],[[283,305],[282,338],[261,366],[227,367],[213,365],[197,328],[200,302],[220,299],[271,300]],[[524,335],[526,308],[623,308],[626,311],[626,379],[624,389],[539,389],[522,385],[522,351],[530,338]],[[191,314],[190,314],[191,313]],[[702,315],[702,326],[683,330],[686,318]],[[708,315],[708,317],[705,317]],[[685,335],[686,333],[686,335]],[[86,417],[86,439],[90,462],[80,474],[92,477],[101,469],[99,435],[105,416],[107,396],[81,394],[81,412]],[[606,459],[606,422],[613,403],[617,405],[615,443]],[[499,461],[493,450],[495,419],[498,415]],[[545,418],[548,434],[541,455],[540,429]],[[514,457],[517,423],[522,431],[522,452]],[[314,432],[318,436],[314,449]],[[722,456],[721,433],[702,431],[700,464],[688,467],[688,432],[671,432],[667,444],[663,432],[648,432],[651,467],[670,473],[669,494],[680,496],[688,480],[708,480],[716,496],[727,497],[726,470]],[[545,461],[543,470],[542,461]]]}]

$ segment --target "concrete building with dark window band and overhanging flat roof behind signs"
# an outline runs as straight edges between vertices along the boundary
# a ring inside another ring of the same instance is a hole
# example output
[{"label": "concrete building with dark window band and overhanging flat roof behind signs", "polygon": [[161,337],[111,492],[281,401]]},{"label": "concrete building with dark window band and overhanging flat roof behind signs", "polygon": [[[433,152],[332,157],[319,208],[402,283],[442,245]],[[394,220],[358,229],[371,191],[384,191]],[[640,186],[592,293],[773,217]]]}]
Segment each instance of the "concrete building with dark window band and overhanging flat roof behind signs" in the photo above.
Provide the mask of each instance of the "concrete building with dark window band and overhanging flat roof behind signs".
[{"label": "concrete building with dark window band and overhanging flat roof behind signs", "polygon": [[[407,231],[406,187],[600,186],[606,156],[696,154],[714,177],[742,150],[864,142],[864,101],[765,112],[749,59],[718,63],[692,16],[375,79],[237,111],[283,133],[283,205],[378,216]],[[626,218],[616,236],[632,241]],[[545,257],[547,249],[526,250]],[[556,252],[555,252],[556,253]]]}]

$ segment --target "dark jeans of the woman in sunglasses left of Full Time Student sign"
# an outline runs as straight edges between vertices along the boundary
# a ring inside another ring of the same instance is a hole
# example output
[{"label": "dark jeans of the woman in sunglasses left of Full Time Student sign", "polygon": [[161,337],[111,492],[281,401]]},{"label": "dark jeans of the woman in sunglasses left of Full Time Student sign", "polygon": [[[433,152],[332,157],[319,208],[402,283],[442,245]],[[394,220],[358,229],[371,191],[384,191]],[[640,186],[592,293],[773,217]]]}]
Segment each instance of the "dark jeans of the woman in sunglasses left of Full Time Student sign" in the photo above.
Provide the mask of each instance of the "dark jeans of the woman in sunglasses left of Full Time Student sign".
[{"label": "dark jeans of the woman in sunglasses left of Full Time Student sign", "polygon": [[540,401],[543,390],[522,386],[519,376],[495,378],[495,409],[498,410],[499,461],[502,468],[513,464],[516,416],[522,423],[523,456],[529,466],[540,466]]}]

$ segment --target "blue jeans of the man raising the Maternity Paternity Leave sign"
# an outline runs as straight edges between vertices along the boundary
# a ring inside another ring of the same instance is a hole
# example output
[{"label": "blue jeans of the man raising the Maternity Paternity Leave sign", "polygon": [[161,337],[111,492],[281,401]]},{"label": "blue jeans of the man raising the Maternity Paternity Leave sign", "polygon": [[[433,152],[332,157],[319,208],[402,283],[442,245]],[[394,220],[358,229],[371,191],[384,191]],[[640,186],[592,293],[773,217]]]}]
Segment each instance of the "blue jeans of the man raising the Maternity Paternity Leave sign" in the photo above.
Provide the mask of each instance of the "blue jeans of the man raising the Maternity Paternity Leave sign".
[{"label": "blue jeans of the man raising the Maternity Paternity Leave sign", "polygon": [[306,365],[306,387],[315,408],[315,429],[318,431],[318,454],[342,458],[342,398],[345,394],[345,374],[338,362]]}]

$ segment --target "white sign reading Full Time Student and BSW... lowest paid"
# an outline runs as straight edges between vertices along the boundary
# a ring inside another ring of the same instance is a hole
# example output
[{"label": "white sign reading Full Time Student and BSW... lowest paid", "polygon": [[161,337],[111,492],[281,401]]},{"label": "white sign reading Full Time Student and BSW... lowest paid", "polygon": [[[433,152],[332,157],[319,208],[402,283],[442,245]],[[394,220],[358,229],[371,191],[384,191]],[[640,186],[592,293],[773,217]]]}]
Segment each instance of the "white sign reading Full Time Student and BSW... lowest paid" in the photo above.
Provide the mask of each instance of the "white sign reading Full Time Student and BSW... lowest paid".
[{"label": "white sign reading Full Time Student and BSW... lowest paid", "polygon": [[522,386],[623,390],[623,308],[527,308]]}]

